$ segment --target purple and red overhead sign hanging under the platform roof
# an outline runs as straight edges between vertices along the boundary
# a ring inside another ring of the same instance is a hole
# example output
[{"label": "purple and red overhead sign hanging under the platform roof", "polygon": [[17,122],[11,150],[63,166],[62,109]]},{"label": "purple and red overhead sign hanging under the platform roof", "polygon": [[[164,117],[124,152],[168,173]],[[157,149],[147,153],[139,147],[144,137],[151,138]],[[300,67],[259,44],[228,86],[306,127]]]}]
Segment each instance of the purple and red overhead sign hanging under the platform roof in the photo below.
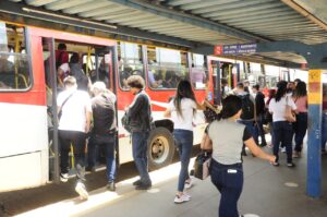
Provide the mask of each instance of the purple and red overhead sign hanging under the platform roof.
[{"label": "purple and red overhead sign hanging under the platform roof", "polygon": [[256,44],[219,45],[215,46],[214,55],[242,55],[256,52]]}]

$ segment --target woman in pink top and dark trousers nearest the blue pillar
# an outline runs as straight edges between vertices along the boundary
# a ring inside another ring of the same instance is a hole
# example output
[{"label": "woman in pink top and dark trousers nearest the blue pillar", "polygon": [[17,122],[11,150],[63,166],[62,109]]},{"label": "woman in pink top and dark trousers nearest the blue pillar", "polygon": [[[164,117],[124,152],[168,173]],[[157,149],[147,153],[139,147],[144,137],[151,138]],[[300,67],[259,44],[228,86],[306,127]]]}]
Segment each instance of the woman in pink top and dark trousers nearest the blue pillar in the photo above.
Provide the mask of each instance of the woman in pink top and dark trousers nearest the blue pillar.
[{"label": "woman in pink top and dark trousers nearest the blue pillar", "polygon": [[303,138],[307,129],[307,93],[306,84],[304,82],[299,82],[294,94],[293,100],[296,105],[296,122],[293,124],[295,134],[295,148],[293,157],[301,157],[301,152],[303,147]]}]

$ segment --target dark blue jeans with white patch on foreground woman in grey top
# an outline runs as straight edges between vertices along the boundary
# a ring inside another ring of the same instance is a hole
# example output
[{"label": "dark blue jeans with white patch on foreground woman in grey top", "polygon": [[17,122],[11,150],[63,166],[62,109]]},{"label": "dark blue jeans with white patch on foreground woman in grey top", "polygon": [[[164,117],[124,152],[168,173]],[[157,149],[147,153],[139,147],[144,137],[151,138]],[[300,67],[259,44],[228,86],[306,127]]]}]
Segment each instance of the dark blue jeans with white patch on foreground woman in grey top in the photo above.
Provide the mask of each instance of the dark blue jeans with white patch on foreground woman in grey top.
[{"label": "dark blue jeans with white patch on foreground woman in grey top", "polygon": [[211,159],[210,176],[221,194],[218,217],[239,217],[238,201],[244,181],[242,164],[221,165]]}]

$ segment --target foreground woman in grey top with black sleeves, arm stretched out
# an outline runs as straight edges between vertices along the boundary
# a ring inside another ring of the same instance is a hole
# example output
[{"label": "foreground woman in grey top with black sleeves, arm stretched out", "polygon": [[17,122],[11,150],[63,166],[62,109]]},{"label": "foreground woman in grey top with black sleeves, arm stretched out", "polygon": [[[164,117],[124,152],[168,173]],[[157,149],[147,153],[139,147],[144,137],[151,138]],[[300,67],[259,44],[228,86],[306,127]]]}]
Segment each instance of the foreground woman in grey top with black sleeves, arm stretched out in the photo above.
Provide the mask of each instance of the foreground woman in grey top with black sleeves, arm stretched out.
[{"label": "foreground woman in grey top with black sleeves, arm stretched out", "polygon": [[[276,157],[263,152],[244,124],[238,123],[242,113],[242,99],[228,96],[222,100],[221,120],[208,126],[213,142],[210,162],[211,182],[220,192],[219,217],[239,217],[238,201],[243,189],[243,143],[258,158],[275,162]],[[206,147],[208,149],[209,147]]]}]

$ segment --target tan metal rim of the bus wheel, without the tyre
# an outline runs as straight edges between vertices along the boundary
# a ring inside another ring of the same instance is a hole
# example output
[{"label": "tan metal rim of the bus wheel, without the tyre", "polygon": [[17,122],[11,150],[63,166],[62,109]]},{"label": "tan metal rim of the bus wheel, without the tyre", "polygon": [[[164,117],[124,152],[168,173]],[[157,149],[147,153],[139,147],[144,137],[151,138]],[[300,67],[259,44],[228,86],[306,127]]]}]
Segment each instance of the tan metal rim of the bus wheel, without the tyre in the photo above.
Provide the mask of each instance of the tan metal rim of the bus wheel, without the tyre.
[{"label": "tan metal rim of the bus wheel, without the tyre", "polygon": [[169,155],[169,143],[165,136],[156,136],[150,145],[150,158],[156,164],[164,162]]}]

